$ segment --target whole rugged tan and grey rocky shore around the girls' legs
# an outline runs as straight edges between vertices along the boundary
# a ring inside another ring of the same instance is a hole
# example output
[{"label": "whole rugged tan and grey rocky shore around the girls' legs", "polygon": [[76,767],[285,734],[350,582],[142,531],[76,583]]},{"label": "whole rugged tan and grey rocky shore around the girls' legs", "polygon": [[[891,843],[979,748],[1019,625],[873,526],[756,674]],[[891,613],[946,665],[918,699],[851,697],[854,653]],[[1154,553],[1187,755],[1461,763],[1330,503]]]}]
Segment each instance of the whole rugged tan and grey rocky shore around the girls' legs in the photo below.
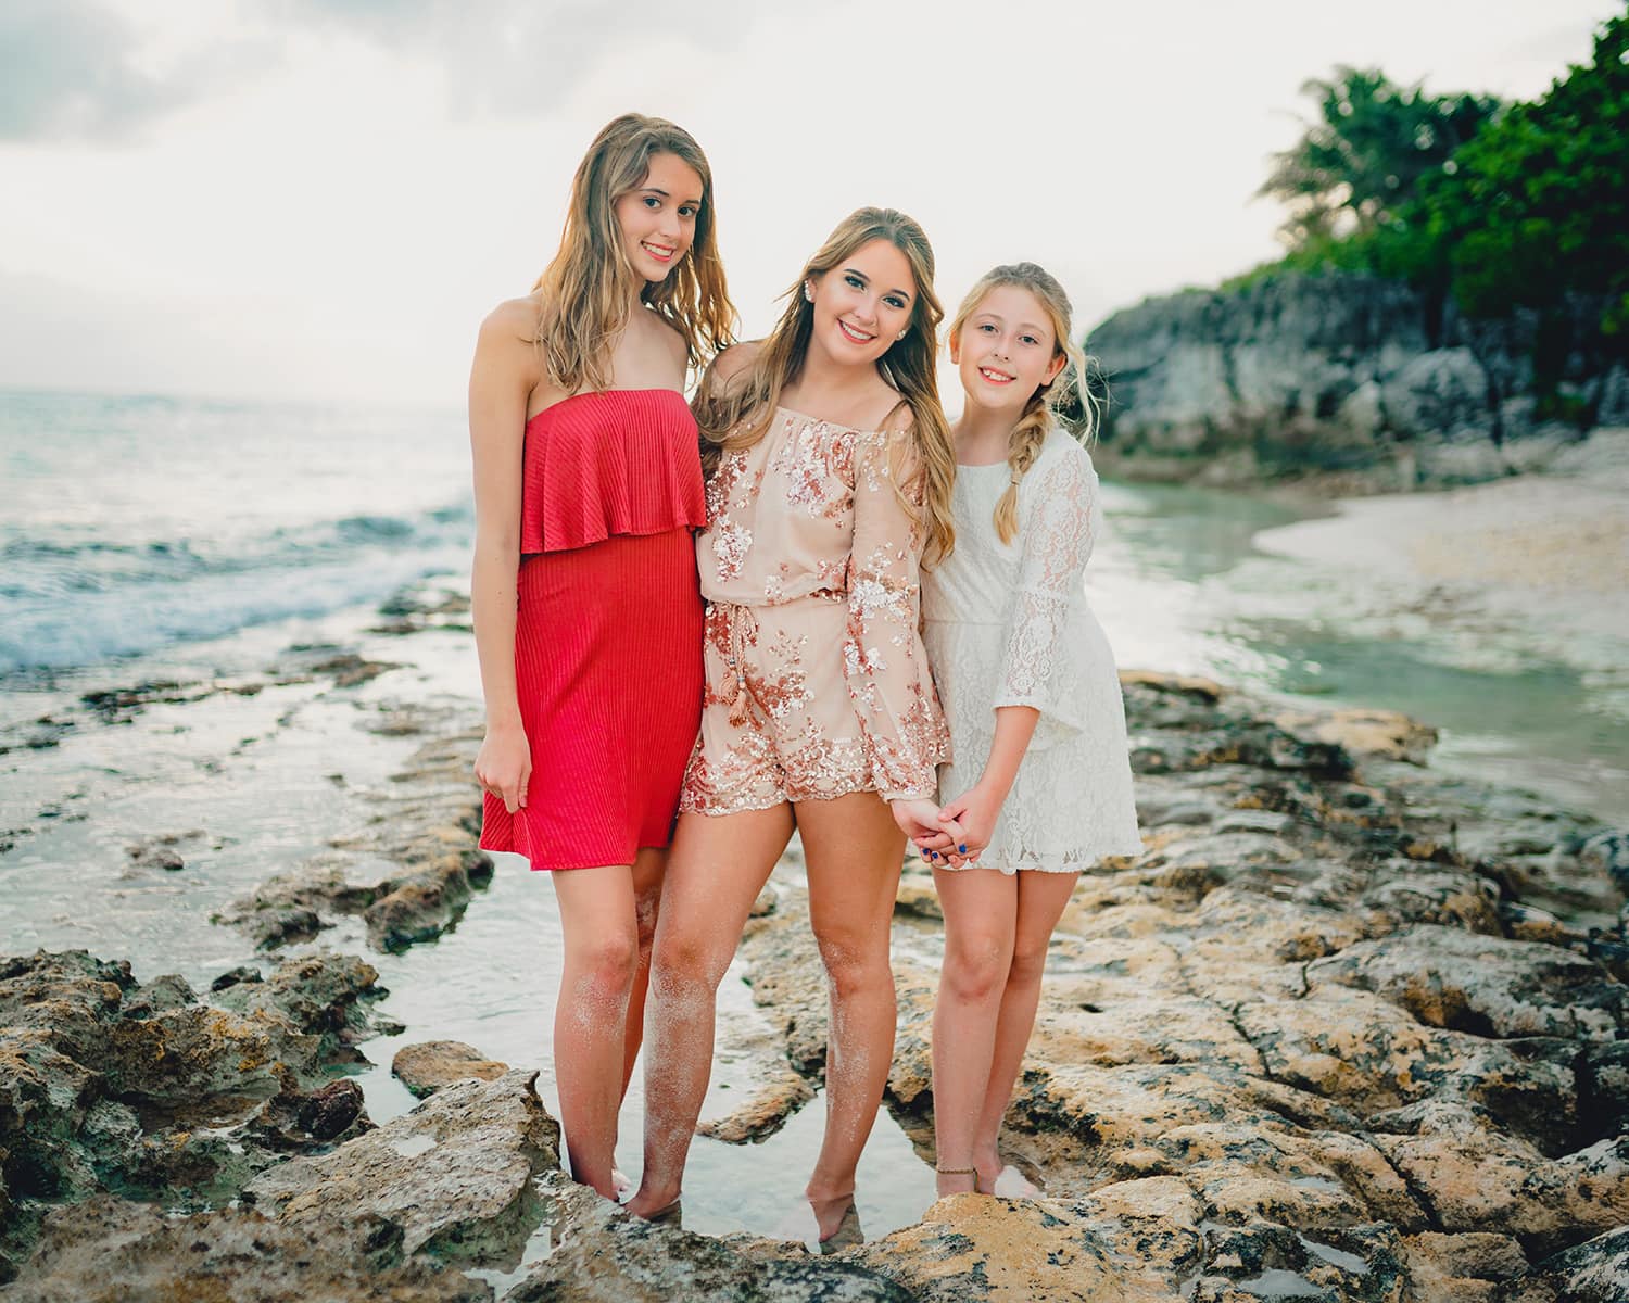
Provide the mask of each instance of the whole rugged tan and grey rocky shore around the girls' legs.
[{"label": "whole rugged tan and grey rocky shore around the girls' legs", "polygon": [[[391,632],[458,617],[435,606]],[[1399,715],[1122,681],[1145,850],[1085,876],[1054,941],[1007,1125],[1044,1197],[940,1200],[824,1257],[634,1222],[560,1174],[534,1073],[471,1046],[399,1054],[425,1098],[373,1125],[347,1064],[399,1028],[367,959],[305,946],[352,919],[376,951],[435,946],[481,909],[476,735],[427,710],[365,844],[222,910],[262,963],[205,992],[0,959],[0,1298],[1622,1296],[1629,837],[1434,774]],[[798,870],[743,943],[774,1067],[717,1138],[818,1093]],[[886,1103],[929,1161],[933,914],[911,866]]]}]

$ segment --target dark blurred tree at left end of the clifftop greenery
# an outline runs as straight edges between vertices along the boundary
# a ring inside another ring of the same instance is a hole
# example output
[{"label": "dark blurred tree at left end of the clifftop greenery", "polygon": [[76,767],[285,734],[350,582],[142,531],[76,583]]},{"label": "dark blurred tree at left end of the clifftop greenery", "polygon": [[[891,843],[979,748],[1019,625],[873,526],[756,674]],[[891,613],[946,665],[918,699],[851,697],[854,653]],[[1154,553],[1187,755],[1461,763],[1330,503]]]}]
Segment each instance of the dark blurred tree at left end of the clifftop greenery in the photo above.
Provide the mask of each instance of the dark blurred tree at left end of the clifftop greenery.
[{"label": "dark blurred tree at left end of the clifftop greenery", "polygon": [[1316,103],[1316,119],[1274,155],[1259,191],[1289,207],[1282,235],[1293,251],[1391,225],[1420,178],[1440,173],[1500,107],[1492,96],[1430,96],[1378,68],[1344,65],[1302,93]]}]

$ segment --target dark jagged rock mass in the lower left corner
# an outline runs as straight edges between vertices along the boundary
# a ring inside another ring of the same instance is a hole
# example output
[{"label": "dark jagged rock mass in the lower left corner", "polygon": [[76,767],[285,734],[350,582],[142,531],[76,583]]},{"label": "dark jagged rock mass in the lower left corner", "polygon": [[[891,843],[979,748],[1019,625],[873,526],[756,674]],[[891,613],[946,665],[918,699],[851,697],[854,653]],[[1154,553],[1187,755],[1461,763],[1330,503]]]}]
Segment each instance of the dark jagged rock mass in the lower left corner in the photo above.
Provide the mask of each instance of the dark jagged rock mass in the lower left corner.
[{"label": "dark jagged rock mass in the lower left corner", "polygon": [[0,959],[0,1272],[49,1205],[101,1189],[205,1207],[288,1152],[368,1124],[331,1081],[367,1034],[373,969],[310,956],[204,1003],[85,951]]}]

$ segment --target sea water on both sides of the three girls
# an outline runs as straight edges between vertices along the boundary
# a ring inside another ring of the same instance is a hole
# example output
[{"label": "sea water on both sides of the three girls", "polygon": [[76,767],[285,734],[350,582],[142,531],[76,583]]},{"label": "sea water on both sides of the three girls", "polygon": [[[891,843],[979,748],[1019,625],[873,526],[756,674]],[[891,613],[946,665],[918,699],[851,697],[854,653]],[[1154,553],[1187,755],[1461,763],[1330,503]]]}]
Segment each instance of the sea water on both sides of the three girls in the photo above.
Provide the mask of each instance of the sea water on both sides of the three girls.
[{"label": "sea water on both sides of the three girls", "polygon": [[[1579,656],[1256,546],[1316,503],[1108,484],[1104,505],[1088,596],[1122,666],[1404,710],[1445,767],[1629,814],[1629,647]],[[0,723],[16,691],[26,712],[124,661],[230,661],[468,573],[472,523],[456,409],[0,391]]]}]

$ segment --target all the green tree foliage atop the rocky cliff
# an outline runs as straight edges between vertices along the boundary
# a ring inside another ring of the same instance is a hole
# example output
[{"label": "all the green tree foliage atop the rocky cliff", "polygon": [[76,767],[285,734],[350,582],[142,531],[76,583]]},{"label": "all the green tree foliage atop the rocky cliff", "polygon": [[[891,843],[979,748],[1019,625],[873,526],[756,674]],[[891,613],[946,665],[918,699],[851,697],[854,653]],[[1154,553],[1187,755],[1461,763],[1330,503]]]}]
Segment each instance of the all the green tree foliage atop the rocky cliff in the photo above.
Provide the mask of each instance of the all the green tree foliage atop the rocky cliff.
[{"label": "all the green tree foliage atop the rocky cliff", "polygon": [[[1629,11],[1601,24],[1590,64],[1507,109],[1430,99],[1377,70],[1306,85],[1321,122],[1262,186],[1290,204],[1290,252],[1232,283],[1363,270],[1448,295],[1471,316],[1525,306],[1546,318],[1600,296],[1603,332],[1629,352]],[[1432,134],[1411,150],[1422,124]]]}]

